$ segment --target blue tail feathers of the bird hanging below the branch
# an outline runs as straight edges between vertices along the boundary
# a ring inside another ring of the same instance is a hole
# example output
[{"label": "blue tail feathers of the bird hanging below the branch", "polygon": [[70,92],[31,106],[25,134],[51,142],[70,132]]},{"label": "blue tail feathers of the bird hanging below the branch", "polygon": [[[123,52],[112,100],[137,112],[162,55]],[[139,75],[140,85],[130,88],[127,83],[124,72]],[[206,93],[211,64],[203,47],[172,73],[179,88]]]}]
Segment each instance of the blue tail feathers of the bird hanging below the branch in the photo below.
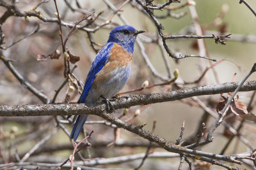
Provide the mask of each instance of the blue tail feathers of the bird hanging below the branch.
[{"label": "blue tail feathers of the bird hanging below the branch", "polygon": [[76,123],[72,129],[71,134],[70,134],[70,139],[74,139],[74,141],[76,141],[76,139],[79,136],[79,133],[83,129],[83,125],[84,125],[84,122],[86,121],[87,117],[88,117],[88,115],[79,115],[77,117]]}]

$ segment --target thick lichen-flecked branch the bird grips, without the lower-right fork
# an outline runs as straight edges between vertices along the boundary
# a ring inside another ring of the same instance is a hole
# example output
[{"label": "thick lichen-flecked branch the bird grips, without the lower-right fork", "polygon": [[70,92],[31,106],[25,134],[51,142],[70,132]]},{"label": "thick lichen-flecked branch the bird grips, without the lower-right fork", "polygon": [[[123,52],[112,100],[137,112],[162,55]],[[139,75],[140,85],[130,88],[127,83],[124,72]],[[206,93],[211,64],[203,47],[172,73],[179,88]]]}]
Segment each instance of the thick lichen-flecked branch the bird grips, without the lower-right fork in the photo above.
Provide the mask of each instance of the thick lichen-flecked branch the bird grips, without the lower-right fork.
[{"label": "thick lichen-flecked branch the bird grips, without the lower-right fork", "polygon": [[[176,101],[193,96],[220,94],[234,92],[239,83],[223,83],[220,85],[207,85],[191,87],[189,89],[173,92],[159,92],[153,94],[141,94],[118,97],[113,99],[115,109],[129,108],[141,104],[162,103]],[[256,90],[256,81],[247,81],[240,91]],[[93,108],[84,104],[48,104],[48,105],[24,105],[24,106],[0,106],[0,117],[25,117],[25,116],[49,116],[49,115],[99,115],[106,111],[106,105],[99,103]]]}]

